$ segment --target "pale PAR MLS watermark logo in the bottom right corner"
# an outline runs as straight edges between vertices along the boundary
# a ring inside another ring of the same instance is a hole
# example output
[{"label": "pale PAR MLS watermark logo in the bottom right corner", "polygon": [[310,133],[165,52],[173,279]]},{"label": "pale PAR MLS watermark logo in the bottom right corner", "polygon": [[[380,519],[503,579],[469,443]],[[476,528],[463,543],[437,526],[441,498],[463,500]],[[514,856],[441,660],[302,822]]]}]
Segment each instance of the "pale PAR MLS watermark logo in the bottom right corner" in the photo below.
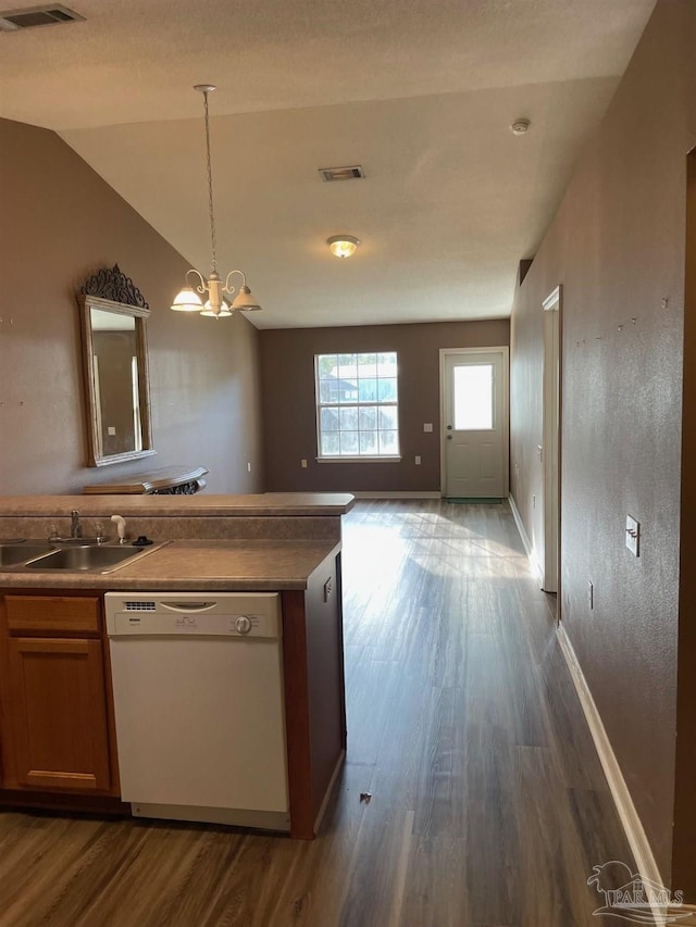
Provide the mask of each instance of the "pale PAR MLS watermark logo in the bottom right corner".
[{"label": "pale PAR MLS watermark logo in the bottom right corner", "polygon": [[672,894],[664,886],[631,872],[625,863],[618,860],[594,866],[587,885],[594,886],[605,897],[602,906],[593,911],[595,917],[610,914],[634,924],[651,925],[674,924],[691,917],[691,912],[681,910],[683,892]]}]

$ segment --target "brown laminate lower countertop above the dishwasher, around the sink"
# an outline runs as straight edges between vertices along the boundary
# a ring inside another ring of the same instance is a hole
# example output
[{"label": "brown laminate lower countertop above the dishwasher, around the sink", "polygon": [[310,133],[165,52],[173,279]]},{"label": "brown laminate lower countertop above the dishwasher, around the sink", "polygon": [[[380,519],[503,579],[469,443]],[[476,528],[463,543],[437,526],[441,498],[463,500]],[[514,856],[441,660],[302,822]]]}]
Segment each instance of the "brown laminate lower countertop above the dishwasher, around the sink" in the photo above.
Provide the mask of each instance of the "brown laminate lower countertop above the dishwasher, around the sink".
[{"label": "brown laminate lower countertop above the dishwasher, around the sink", "polygon": [[170,541],[109,573],[0,568],[0,589],[306,589],[311,574],[339,550],[335,541]]}]

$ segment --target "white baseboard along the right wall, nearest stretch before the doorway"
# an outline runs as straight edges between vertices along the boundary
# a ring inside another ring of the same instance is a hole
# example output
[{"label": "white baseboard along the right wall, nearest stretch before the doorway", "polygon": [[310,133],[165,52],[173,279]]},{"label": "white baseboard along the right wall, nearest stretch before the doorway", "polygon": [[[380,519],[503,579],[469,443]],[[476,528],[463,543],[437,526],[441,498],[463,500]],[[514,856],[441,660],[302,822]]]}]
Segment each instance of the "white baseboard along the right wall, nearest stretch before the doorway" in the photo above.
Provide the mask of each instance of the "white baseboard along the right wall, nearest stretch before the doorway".
[{"label": "white baseboard along the right wall, nearest stretch before the doorway", "polygon": [[[602,769],[605,771],[611,797],[613,798],[617,811],[619,812],[619,817],[621,818],[621,824],[623,825],[629,845],[631,847],[636,868],[643,878],[651,879],[659,885],[664,885],[660,877],[660,870],[658,869],[655,856],[652,855],[652,850],[650,849],[638,812],[636,811],[633,799],[631,798],[631,792],[629,791],[629,787],[623,778],[619,761],[613,752],[607,730],[602,724],[601,716],[597,710],[592,692],[589,691],[585,674],[582,671],[575,651],[573,650],[573,646],[566,632],[566,628],[562,625],[559,625],[557,635],[561,651],[575,686],[575,691],[580,698],[580,703],[585,714],[585,718],[592,734],[592,739],[594,740],[597,753],[599,754],[599,761]],[[602,861],[598,860],[597,862],[600,863]],[[683,905],[683,909],[685,911],[689,910],[686,905]],[[680,911],[682,909],[680,909]],[[656,915],[656,924],[664,923],[664,919],[660,919],[660,916],[663,917],[664,914],[661,909],[654,906],[652,913]]]}]

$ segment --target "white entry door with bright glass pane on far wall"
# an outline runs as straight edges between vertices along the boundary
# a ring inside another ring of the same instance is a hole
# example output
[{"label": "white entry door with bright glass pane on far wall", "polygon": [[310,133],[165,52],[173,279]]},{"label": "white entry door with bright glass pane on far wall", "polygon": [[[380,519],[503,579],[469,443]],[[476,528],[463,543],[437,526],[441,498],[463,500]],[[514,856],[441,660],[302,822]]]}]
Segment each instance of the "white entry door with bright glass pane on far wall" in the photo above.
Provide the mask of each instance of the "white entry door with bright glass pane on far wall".
[{"label": "white entry door with bright glass pane on far wall", "polygon": [[442,350],[443,494],[508,494],[508,349]]}]

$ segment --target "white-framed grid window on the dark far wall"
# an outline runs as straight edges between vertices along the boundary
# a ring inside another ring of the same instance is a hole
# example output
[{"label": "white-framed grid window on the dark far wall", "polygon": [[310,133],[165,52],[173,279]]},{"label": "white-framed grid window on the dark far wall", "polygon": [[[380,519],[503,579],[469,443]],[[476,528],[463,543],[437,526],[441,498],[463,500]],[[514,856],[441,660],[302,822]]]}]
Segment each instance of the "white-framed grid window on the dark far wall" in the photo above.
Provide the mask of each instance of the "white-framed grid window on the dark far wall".
[{"label": "white-framed grid window on the dark far wall", "polygon": [[395,351],[316,354],[319,459],[399,455]]}]

